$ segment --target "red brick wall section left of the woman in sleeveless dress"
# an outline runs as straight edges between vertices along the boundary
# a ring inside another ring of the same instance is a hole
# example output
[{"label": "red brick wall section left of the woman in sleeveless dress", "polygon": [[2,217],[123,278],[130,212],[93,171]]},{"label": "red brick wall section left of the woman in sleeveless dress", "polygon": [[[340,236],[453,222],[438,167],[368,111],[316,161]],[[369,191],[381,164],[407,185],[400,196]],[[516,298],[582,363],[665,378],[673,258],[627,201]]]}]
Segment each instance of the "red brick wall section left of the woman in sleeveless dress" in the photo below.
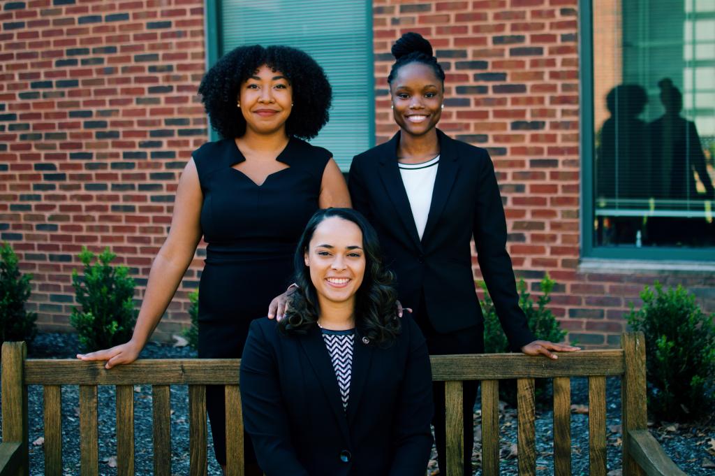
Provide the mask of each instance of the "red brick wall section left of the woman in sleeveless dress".
[{"label": "red brick wall section left of the woman in sleeveless dress", "polygon": [[[202,0],[6,1],[0,30],[0,239],[34,275],[44,329],[69,329],[82,246],[139,283],[167,235],[179,173],[207,140]],[[159,337],[187,319],[187,273]]]}]

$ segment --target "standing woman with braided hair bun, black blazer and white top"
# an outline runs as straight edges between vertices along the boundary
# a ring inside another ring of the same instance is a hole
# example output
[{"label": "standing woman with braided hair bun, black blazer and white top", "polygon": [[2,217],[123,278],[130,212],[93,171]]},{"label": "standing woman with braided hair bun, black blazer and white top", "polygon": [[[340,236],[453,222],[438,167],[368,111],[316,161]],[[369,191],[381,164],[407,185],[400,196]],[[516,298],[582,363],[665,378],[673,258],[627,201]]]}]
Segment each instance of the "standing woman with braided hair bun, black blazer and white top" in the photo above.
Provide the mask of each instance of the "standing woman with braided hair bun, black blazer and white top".
[{"label": "standing woman with braided hair bun, black blazer and white top", "polygon": [[[474,288],[470,239],[501,325],[514,351],[556,359],[576,347],[536,340],[518,306],[506,218],[488,152],[438,130],[445,73],[432,45],[406,33],[392,48],[388,83],[395,136],[352,160],[352,204],[375,227],[398,296],[413,308],[432,355],[484,351],[483,316]],[[465,474],[472,474],[477,385],[464,389]],[[445,468],[444,385],[435,384],[435,439]]]}]

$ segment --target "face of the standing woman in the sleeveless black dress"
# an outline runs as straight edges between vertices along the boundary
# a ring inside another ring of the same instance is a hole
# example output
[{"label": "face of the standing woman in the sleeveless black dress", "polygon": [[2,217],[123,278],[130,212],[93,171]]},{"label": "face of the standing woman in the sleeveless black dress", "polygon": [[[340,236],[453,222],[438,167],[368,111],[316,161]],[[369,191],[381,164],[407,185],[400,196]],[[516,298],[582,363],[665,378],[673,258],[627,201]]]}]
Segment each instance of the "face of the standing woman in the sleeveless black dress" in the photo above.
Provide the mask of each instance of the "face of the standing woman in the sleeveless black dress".
[{"label": "face of the standing woman in the sleeveless black dress", "polygon": [[292,87],[281,72],[265,64],[241,83],[238,102],[246,128],[258,134],[285,130],[292,108]]}]

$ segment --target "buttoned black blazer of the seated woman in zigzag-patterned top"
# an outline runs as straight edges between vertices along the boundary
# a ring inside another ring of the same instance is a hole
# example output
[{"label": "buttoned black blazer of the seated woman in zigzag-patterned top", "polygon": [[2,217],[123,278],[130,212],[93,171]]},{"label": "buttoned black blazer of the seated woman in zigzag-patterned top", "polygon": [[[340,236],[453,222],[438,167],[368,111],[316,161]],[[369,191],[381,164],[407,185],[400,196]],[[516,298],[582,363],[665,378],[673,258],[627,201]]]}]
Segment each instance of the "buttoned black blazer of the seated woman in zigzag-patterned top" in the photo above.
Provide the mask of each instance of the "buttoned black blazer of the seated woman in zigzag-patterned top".
[{"label": "buttoned black blazer of the seated woman in zigzag-patterned top", "polygon": [[355,336],[347,413],[317,326],[281,334],[251,323],[241,360],[243,421],[268,476],[422,476],[432,434],[432,379],[412,319],[388,348]]}]

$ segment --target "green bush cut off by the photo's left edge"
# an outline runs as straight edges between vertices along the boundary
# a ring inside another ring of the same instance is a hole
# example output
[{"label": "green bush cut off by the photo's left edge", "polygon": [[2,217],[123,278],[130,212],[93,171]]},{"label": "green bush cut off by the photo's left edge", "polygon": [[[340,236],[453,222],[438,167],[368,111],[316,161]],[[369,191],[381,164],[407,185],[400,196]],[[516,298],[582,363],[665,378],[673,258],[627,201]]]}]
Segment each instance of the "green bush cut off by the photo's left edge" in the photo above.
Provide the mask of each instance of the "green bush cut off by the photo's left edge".
[{"label": "green bush cut off by the photo's left edge", "polygon": [[20,272],[12,247],[0,246],[0,345],[4,341],[31,341],[37,329],[34,312],[25,311],[32,276]]}]

